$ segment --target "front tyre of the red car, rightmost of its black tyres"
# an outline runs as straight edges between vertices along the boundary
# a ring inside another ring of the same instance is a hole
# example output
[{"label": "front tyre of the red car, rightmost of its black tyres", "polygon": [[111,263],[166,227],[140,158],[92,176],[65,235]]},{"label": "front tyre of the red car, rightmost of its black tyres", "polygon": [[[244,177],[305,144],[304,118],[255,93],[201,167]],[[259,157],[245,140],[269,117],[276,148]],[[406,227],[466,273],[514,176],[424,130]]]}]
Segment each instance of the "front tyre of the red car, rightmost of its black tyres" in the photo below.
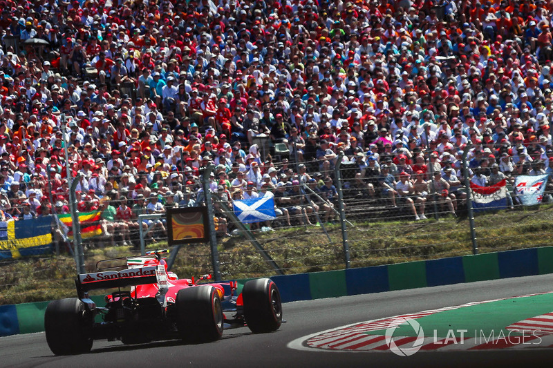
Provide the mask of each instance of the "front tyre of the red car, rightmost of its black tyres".
[{"label": "front tyre of the red car, rightmost of its black tyres", "polygon": [[253,333],[277,331],[282,323],[281,294],[268,278],[250,280],[242,290],[244,318]]}]

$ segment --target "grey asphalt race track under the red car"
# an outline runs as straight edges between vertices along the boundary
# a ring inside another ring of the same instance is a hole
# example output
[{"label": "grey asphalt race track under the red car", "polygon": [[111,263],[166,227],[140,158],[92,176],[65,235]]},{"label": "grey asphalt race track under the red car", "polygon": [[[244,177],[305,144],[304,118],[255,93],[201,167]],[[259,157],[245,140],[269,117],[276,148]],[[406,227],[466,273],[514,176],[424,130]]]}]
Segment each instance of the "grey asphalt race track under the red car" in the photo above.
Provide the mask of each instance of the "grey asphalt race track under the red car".
[{"label": "grey asphalt race track under the red car", "polygon": [[222,340],[202,345],[96,341],[91,354],[79,356],[54,356],[44,333],[8,336],[0,338],[0,367],[551,367],[553,349],[544,348],[419,351],[400,357],[390,351],[324,352],[288,347],[302,336],[354,322],[545,291],[553,291],[553,275],[292,302],[283,305],[287,323],[274,333],[254,335],[247,328],[233,329],[225,331]]}]

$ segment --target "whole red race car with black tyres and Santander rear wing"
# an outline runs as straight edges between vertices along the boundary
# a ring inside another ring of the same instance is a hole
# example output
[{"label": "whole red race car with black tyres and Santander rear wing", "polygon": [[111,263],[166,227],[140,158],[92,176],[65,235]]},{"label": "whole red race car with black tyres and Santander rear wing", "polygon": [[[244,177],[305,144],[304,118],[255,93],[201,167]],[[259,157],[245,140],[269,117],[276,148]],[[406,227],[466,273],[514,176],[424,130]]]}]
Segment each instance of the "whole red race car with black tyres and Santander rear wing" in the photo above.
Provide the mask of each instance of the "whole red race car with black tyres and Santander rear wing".
[{"label": "whole red race car with black tyres and Santander rear wing", "polygon": [[[167,271],[163,253],[169,251],[100,261],[99,272],[78,275],[78,298],[54,300],[46,308],[46,341],[53,353],[86,353],[93,340],[101,339],[138,344],[180,338],[197,343],[218,340],[223,329],[247,326],[265,333],[281,326],[281,297],[272,280],[247,281],[236,295],[236,282],[178,279]],[[114,262],[121,264],[115,267]],[[105,307],[97,307],[88,297],[93,289],[118,290],[105,297]]]}]

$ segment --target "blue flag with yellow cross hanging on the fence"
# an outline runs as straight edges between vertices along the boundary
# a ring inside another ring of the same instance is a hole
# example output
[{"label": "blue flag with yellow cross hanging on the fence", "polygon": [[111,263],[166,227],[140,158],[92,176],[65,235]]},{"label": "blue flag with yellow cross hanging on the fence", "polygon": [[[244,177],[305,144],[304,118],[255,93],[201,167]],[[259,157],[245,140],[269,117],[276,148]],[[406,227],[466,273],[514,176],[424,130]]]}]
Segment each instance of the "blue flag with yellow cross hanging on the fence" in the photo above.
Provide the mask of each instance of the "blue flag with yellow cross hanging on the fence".
[{"label": "blue flag with yellow cross hanging on the fence", "polygon": [[49,253],[52,217],[0,222],[0,260]]}]

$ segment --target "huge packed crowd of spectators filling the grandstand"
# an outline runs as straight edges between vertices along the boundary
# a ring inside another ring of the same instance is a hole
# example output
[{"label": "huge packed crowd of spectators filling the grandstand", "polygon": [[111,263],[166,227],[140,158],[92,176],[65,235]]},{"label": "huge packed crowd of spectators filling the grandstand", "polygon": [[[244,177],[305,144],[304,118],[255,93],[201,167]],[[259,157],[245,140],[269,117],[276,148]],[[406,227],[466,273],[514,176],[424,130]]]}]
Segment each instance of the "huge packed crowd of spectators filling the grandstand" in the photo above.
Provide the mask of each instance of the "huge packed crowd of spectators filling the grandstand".
[{"label": "huge packed crowd of spectators filling the grandstand", "polygon": [[432,193],[455,215],[468,144],[479,185],[552,171],[553,1],[0,3],[3,217],[66,213],[67,166],[127,241],[203,202],[211,163],[221,199],[274,195],[285,224],[335,217],[340,152],[415,219]]}]

